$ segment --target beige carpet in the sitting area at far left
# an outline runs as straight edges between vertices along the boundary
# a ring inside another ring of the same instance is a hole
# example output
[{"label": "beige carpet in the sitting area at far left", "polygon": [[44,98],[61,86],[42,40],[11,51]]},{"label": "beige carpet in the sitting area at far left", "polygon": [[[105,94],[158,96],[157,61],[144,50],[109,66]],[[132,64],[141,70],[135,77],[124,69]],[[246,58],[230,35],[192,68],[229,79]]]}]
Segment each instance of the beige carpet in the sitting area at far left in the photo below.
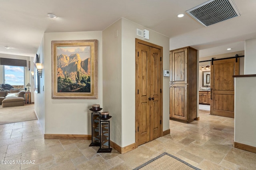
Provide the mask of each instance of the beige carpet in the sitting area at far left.
[{"label": "beige carpet in the sitting area at far left", "polygon": [[36,119],[34,104],[15,107],[2,107],[0,105],[0,125]]}]

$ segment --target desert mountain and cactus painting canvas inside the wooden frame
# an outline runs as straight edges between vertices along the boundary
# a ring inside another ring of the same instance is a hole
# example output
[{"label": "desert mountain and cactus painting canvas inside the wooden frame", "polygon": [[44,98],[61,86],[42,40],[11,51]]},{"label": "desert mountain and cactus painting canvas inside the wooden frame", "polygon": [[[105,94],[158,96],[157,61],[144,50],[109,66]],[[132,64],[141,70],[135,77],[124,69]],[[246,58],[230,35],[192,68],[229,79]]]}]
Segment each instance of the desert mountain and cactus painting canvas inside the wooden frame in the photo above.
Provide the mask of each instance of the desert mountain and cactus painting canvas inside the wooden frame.
[{"label": "desert mountain and cactus painting canvas inside the wooden frame", "polygon": [[57,47],[57,92],[90,92],[90,46]]}]

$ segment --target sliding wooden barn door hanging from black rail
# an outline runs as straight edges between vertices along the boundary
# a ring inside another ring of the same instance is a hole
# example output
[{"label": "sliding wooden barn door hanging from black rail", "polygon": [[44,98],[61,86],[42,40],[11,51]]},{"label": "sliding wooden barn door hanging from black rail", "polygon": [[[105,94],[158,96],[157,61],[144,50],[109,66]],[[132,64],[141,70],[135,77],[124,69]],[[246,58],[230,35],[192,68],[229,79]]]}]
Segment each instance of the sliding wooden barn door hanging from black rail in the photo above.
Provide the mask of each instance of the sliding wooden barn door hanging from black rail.
[{"label": "sliding wooden barn door hanging from black rail", "polygon": [[210,114],[234,118],[234,78],[239,58],[213,61],[211,66]]}]

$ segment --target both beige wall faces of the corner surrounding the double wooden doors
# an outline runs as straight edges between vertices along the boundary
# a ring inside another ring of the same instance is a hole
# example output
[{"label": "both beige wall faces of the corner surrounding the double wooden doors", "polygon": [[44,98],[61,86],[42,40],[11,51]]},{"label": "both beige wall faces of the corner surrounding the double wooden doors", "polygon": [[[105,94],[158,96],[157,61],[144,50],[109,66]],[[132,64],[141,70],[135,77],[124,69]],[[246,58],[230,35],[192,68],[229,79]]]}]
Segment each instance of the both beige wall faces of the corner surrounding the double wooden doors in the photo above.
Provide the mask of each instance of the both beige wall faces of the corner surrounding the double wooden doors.
[{"label": "both beige wall faces of the corner surrounding the double wooden doors", "polygon": [[[110,124],[110,140],[121,147],[135,143],[135,38],[142,39],[136,35],[137,28],[147,29],[121,18],[102,33],[103,102],[110,114],[113,115]],[[118,30],[118,37],[115,37],[116,30]],[[150,40],[148,42],[163,47],[163,69],[169,70],[169,38],[155,31],[149,31]],[[162,91],[163,130],[165,131],[169,129],[168,77],[163,78]]]}]

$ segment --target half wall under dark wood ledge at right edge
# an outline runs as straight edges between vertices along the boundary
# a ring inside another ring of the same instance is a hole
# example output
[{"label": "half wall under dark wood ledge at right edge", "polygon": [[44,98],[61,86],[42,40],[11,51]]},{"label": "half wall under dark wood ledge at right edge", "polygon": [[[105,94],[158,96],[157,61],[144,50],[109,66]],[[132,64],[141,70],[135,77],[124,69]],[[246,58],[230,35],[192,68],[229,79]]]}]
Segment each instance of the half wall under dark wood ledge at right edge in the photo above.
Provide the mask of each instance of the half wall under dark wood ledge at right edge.
[{"label": "half wall under dark wood ledge at right edge", "polygon": [[234,141],[256,147],[256,77],[235,78]]}]

